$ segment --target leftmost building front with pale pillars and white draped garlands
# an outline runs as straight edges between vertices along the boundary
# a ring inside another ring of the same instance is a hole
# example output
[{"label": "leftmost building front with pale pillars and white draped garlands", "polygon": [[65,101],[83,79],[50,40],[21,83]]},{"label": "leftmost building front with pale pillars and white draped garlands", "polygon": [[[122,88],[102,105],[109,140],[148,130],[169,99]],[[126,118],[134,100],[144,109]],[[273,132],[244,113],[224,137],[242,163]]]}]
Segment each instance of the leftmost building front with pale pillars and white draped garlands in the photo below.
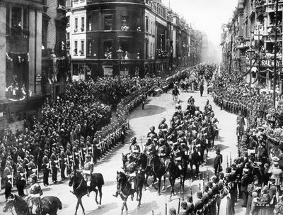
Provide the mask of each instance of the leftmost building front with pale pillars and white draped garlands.
[{"label": "leftmost building front with pale pillars and white draped garlands", "polygon": [[0,130],[40,114],[42,1],[0,2]]}]

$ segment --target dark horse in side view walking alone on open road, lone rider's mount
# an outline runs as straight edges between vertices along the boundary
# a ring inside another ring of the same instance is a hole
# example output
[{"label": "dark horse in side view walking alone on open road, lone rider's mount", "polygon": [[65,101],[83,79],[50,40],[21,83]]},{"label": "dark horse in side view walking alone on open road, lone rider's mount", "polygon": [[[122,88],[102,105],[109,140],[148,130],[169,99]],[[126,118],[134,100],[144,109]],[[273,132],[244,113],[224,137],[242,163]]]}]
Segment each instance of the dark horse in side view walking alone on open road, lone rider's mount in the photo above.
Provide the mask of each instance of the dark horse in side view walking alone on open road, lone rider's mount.
[{"label": "dark horse in side view walking alone on open road, lone rider's mount", "polygon": [[[86,184],[86,180],[84,180],[83,175],[81,175],[81,172],[74,171],[74,173],[72,173],[71,178],[70,178],[70,182],[69,182],[69,186],[73,186],[73,194],[76,196],[76,198],[78,199],[78,202],[76,202],[76,211],[78,210],[79,204],[81,205],[81,209],[83,209],[83,214],[84,213],[84,208],[83,208],[83,203],[81,202],[81,198],[85,195],[88,194],[88,192],[94,191],[96,192],[96,204],[98,204],[98,208],[100,208],[101,206],[101,198],[102,198],[102,185],[104,184],[104,180],[103,180],[103,175],[101,175],[100,173],[93,173],[91,174],[91,185],[87,186]],[[98,187],[98,189],[96,189],[96,187]],[[97,196],[98,196],[98,191],[99,191],[99,203],[97,200]],[[75,212],[76,214],[76,212]]]}]

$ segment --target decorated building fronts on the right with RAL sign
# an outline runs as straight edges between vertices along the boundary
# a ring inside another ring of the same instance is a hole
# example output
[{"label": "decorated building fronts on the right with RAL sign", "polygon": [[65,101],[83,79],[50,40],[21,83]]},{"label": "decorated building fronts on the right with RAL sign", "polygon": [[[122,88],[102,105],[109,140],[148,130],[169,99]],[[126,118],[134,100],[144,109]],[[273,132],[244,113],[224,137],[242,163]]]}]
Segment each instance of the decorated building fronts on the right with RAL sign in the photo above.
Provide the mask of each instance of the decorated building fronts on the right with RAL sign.
[{"label": "decorated building fronts on the right with RAL sign", "polygon": [[[278,1],[277,50],[275,50],[275,0],[238,0],[229,23],[221,35],[222,61],[226,70],[240,72],[255,87],[270,91],[274,58],[277,53],[277,90],[282,92],[282,6]],[[248,51],[254,55],[248,58]]]}]

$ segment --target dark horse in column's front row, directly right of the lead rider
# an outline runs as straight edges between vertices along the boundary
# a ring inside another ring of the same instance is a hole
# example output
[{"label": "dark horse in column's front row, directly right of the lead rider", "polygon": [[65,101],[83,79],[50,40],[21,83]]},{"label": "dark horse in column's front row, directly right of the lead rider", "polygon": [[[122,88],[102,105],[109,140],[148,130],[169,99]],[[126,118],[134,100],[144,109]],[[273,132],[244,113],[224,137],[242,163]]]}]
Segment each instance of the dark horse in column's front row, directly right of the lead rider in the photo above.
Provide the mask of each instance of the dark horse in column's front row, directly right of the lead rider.
[{"label": "dark horse in column's front row, directly right of the lead rider", "polygon": [[[161,162],[158,155],[153,154],[149,156],[149,163],[152,166],[152,173],[154,175],[154,181],[152,182],[152,185],[156,190],[158,190],[158,195],[160,195],[160,186],[161,186],[161,177],[163,176],[164,179],[164,185],[162,189],[165,189],[165,173],[166,173],[166,166]],[[154,182],[156,182],[156,178],[158,178],[158,187],[156,188],[154,185]]]}]

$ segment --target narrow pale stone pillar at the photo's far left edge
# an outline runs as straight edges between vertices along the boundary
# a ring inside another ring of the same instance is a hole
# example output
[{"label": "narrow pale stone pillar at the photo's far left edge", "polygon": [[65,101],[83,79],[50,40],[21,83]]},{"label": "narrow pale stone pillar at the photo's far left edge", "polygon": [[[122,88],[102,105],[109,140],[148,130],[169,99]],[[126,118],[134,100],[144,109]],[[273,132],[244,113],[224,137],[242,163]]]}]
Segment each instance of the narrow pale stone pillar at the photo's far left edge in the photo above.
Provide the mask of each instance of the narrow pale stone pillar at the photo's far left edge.
[{"label": "narrow pale stone pillar at the photo's far left edge", "polygon": [[0,100],[6,99],[6,4],[0,3]]}]

